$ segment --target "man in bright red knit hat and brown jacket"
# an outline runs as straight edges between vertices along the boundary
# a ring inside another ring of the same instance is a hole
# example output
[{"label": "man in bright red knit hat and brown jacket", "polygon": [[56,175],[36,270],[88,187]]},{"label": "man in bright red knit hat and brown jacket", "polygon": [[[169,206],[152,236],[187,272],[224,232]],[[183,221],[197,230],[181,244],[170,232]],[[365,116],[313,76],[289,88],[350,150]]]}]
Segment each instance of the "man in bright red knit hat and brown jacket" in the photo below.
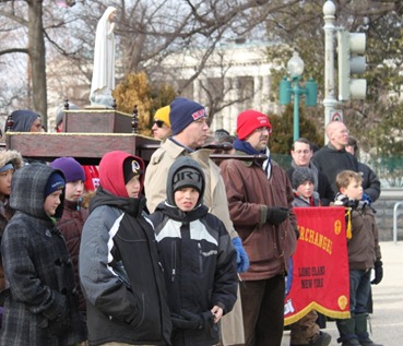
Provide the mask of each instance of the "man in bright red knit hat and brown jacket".
[{"label": "man in bright red knit hat and brown jacket", "polygon": [[236,154],[265,154],[268,159],[225,159],[220,168],[229,214],[250,259],[240,274],[246,346],[280,346],[284,327],[285,275],[297,243],[293,188],[271,159],[272,126],[266,115],[248,109],[238,115]]}]

